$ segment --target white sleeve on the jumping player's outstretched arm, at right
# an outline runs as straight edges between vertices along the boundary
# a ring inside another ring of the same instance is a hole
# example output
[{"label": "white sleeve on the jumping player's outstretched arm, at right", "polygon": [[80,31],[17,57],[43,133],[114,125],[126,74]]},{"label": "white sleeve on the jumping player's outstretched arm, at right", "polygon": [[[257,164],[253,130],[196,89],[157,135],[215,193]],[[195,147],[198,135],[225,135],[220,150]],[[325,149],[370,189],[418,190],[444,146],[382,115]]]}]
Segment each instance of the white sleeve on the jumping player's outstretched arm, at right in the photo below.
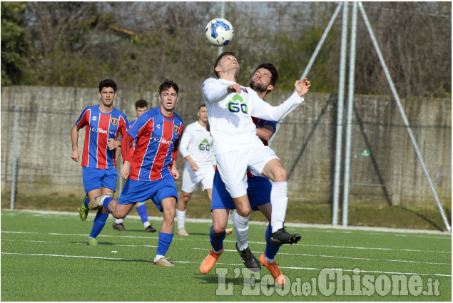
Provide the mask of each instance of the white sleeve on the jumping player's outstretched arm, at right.
[{"label": "white sleeve on the jumping player's outstretched arm, at right", "polygon": [[[255,93],[255,92],[253,92]],[[299,106],[303,101],[303,97],[299,97],[297,93],[292,93],[290,98],[287,98],[285,102],[280,104],[280,106],[270,106],[269,103],[263,101],[258,95],[251,98],[253,103],[252,107],[252,116],[265,120],[278,121],[284,115],[287,115],[293,111],[297,106]]]}]

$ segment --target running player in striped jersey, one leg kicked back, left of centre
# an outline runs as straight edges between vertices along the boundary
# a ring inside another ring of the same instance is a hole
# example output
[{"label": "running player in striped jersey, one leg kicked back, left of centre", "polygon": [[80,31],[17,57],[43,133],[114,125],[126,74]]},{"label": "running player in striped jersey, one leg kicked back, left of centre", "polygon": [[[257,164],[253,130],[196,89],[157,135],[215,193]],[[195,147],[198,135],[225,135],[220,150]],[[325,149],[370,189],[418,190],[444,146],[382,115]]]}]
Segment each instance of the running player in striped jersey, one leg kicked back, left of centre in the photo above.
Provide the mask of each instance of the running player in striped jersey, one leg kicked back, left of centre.
[{"label": "running player in striped jersey, one leg kicked back, left of centre", "polygon": [[[175,205],[178,191],[175,180],[178,145],[183,133],[183,120],[175,113],[179,88],[171,81],[164,81],[159,87],[161,106],[143,113],[136,120],[127,135],[121,140],[123,169],[121,177],[126,180],[118,200],[101,195],[91,200],[91,210],[108,210],[113,217],[121,218],[128,214],[137,202],[152,199],[158,210],[163,212],[163,222],[159,232],[159,242],[154,264],[174,266],[165,254],[173,240]],[[136,140],[136,150],[132,157],[129,146]]]}]

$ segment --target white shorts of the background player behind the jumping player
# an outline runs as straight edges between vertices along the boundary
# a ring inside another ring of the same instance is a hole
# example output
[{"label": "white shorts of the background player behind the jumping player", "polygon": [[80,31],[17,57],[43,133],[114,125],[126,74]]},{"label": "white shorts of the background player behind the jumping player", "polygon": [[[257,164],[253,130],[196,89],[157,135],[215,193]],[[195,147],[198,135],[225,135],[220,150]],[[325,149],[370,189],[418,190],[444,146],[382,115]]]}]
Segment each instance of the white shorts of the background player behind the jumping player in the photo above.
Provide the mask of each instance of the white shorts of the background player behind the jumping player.
[{"label": "white shorts of the background player behind the jumping player", "polygon": [[194,192],[198,184],[201,183],[201,189],[213,188],[214,181],[214,165],[200,166],[198,172],[195,172],[190,168],[190,164],[186,161],[183,171],[183,185],[181,190],[183,192],[192,193]]}]

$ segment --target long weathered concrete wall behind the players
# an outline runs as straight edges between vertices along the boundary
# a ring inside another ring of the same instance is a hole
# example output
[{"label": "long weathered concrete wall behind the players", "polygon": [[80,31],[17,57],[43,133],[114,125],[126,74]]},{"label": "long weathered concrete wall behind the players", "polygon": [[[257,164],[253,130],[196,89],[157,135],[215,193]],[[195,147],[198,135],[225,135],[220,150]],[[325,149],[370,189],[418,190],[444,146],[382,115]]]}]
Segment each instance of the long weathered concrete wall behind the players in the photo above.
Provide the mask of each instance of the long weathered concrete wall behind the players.
[{"label": "long weathered concrete wall behind the players", "polygon": [[[2,192],[11,190],[14,108],[19,106],[17,192],[83,195],[80,163],[70,158],[70,133],[83,108],[99,103],[97,93],[96,88],[1,88]],[[273,92],[268,101],[279,104],[289,94]],[[118,91],[115,107],[133,120],[139,98],[145,98],[151,108],[158,106],[157,93]],[[196,120],[201,103],[201,93],[180,93],[176,112],[186,125]],[[451,205],[452,102],[427,98],[402,103],[439,198]],[[296,202],[332,200],[336,106],[336,96],[309,93],[305,103],[281,123],[275,137],[272,148],[287,168],[288,194]],[[355,96],[352,123],[350,202],[432,205],[432,192],[395,101],[388,96]],[[83,138],[81,131],[80,151]],[[370,153],[362,153],[366,151]],[[183,162],[180,157],[180,172]]]}]

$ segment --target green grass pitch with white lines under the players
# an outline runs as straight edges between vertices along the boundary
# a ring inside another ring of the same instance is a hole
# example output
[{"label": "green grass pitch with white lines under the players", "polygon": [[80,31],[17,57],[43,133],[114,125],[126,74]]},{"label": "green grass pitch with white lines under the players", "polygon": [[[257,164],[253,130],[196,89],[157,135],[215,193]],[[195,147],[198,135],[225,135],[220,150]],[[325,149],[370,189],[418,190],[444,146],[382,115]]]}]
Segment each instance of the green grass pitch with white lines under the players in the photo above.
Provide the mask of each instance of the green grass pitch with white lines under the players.
[{"label": "green grass pitch with white lines under the players", "polygon": [[[99,245],[86,245],[93,214],[1,211],[1,301],[446,301],[452,299],[452,237],[441,232],[334,229],[290,225],[297,245],[276,257],[285,287],[268,269],[253,275],[235,250],[235,235],[208,274],[198,267],[210,248],[208,220],[187,222],[166,257],[153,265],[158,233],[138,217],[128,232],[106,227]],[[158,228],[160,218],[151,220]],[[265,225],[250,224],[256,257],[265,249]],[[337,269],[335,274],[332,269]],[[399,285],[399,286],[397,286]],[[351,290],[351,292],[350,292]]]}]

